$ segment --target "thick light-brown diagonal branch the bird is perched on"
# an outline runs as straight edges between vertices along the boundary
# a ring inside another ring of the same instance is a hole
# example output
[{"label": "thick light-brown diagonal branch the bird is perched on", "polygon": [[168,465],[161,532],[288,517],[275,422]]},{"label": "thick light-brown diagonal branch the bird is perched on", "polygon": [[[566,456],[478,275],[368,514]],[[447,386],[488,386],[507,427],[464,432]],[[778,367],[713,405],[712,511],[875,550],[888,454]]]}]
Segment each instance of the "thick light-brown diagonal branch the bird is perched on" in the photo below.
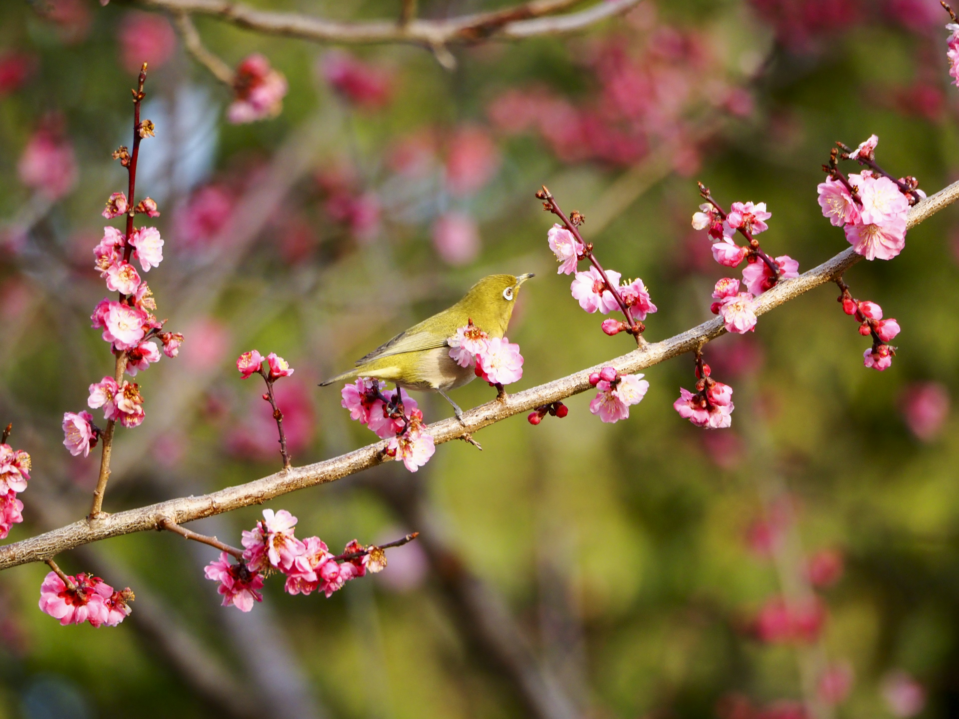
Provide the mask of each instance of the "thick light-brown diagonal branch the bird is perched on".
[{"label": "thick light-brown diagonal branch the bird is perched on", "polygon": [[[957,199],[959,199],[959,182],[954,182],[912,207],[909,210],[907,226],[914,227]],[[860,255],[849,248],[799,277],[781,281],[773,289],[760,294],[756,301],[756,313],[767,313],[808,290],[832,282],[861,259]],[[586,391],[591,388],[590,374],[603,366],[612,365],[622,374],[631,374],[666,359],[693,351],[724,332],[722,317],[716,317],[679,335],[637,348],[617,359],[470,409],[463,413],[462,421],[450,418],[436,422],[429,426],[428,431],[433,434],[436,444],[449,442],[465,434],[476,432],[478,429],[502,422],[515,414],[559,402]],[[304,467],[294,467],[201,497],[169,499],[150,506],[102,516],[89,522],[85,520],[74,522],[12,545],[0,546],[0,569],[16,567],[28,562],[43,562],[66,549],[109,537],[157,529],[164,521],[182,524],[251,504],[262,504],[297,489],[331,482],[382,464],[386,458],[385,449],[385,441],[377,442],[332,459]]]}]

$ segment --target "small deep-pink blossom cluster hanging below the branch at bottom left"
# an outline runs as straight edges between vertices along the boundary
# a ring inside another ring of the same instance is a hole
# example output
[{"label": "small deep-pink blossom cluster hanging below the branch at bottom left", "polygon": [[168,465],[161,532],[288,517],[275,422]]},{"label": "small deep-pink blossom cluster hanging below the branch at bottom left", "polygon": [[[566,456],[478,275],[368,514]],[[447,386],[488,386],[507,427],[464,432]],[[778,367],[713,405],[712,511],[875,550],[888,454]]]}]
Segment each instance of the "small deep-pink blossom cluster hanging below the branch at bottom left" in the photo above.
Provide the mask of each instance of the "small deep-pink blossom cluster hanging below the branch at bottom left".
[{"label": "small deep-pink blossom cluster hanging below the branch at bottom left", "polygon": [[51,571],[40,585],[40,611],[59,619],[62,626],[90,622],[115,627],[130,613],[133,592],[129,587],[116,591],[100,577],[80,572],[66,577]]}]

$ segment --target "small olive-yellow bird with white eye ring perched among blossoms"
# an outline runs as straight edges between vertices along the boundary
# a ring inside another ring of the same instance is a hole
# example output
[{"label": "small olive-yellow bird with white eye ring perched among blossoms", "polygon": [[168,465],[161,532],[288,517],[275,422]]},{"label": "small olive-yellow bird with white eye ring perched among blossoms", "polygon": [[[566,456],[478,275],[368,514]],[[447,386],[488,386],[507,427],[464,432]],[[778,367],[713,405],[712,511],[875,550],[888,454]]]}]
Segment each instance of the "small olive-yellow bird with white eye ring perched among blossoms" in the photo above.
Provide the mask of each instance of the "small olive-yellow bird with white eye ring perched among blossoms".
[{"label": "small olive-yellow bird with white eye ring perched among blossoms", "polygon": [[401,332],[357,360],[356,369],[332,377],[319,386],[368,377],[395,383],[405,389],[439,392],[453,405],[456,417],[462,419],[462,409],[447,392],[472,382],[476,373],[473,367],[460,367],[450,357],[449,338],[471,319],[487,335],[502,337],[520,288],[532,276],[532,272],[527,272],[518,277],[511,274],[483,277],[453,307]]}]

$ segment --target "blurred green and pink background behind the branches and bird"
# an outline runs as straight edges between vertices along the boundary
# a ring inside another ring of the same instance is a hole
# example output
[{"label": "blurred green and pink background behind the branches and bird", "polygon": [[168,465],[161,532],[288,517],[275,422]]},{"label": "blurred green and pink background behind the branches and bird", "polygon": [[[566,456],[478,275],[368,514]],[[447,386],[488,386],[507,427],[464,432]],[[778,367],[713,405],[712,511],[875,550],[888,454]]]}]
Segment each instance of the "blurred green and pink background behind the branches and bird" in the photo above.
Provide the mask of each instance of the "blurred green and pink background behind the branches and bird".
[{"label": "blurred green and pink background behind the branches and bird", "polygon": [[[257,5],[339,18],[398,4]],[[424,0],[443,17],[496,7]],[[133,4],[0,4],[0,424],[33,455],[26,522],[88,511],[99,451],[60,445],[64,411],[112,369],[87,317],[110,159],[129,144],[129,87],[151,62],[139,196],[159,203],[150,273],[180,357],[136,379],[147,420],[122,430],[105,509],[199,494],[278,467],[275,428],[236,356],[290,360],[277,384],[294,463],[373,437],[316,383],[454,302],[479,277],[533,271],[509,337],[518,388],[630,348],[553,272],[546,183],[586,216],[606,267],[641,276],[646,336],[709,318],[724,272],[690,228],[702,179],[765,201],[771,254],[807,269],[847,246],[816,204],[830,145],[880,137],[890,172],[931,194],[959,175],[959,89],[935,0],[644,0],[570,37],[426,51],[336,49],[199,18],[234,65],[289,81],[275,119],[225,122],[229,92],[162,13]],[[628,421],[572,398],[563,420],[514,417],[269,506],[331,546],[409,530],[376,577],[331,599],[268,583],[249,615],[219,607],[209,547],[167,534],[58,558],[137,594],[114,629],[61,628],[36,607],[47,568],[0,574],[0,717],[402,719],[945,717],[959,712],[959,214],[861,263],[854,295],[903,331],[891,369],[830,287],[706,351],[735,389],[732,429],[671,404],[692,359],[650,368]],[[473,383],[461,406],[492,397]],[[424,398],[427,418],[448,416]],[[196,522],[238,544],[258,509]]]}]

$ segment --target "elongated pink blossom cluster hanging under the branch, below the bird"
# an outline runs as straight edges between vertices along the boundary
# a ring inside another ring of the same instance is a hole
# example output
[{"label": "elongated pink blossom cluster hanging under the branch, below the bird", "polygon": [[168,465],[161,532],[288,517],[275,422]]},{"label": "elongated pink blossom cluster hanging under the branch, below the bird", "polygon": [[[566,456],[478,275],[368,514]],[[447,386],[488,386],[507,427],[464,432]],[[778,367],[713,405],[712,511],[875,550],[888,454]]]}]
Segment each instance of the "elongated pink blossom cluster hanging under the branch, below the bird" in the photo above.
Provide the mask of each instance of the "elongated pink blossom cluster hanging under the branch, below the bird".
[{"label": "elongated pink blossom cluster hanging under the branch, below the bird", "polygon": [[382,547],[363,546],[353,540],[335,556],[319,537],[299,540],[295,537],[296,518],[285,509],[263,510],[263,520],[243,533],[243,560],[231,563],[229,554],[205,568],[206,578],[220,582],[224,607],[230,605],[249,612],[254,602],[263,601],[264,578],[274,571],[286,577],[284,590],[291,594],[319,591],[330,597],[351,579],[367,570],[386,568]]}]

